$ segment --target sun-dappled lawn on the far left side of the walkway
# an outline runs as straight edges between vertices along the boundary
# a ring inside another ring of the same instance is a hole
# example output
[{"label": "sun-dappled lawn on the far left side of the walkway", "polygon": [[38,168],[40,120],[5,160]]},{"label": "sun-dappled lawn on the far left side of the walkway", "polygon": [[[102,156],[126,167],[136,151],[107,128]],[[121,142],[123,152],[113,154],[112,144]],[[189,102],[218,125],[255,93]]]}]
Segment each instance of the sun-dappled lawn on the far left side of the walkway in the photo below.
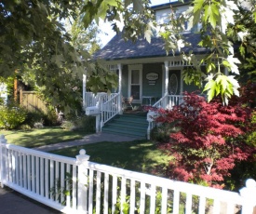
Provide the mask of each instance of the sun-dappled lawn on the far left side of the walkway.
[{"label": "sun-dappled lawn on the far left side of the walkway", "polygon": [[82,139],[90,133],[77,130],[65,130],[61,127],[44,127],[31,130],[1,130],[5,135],[7,143],[33,148],[62,141]]}]

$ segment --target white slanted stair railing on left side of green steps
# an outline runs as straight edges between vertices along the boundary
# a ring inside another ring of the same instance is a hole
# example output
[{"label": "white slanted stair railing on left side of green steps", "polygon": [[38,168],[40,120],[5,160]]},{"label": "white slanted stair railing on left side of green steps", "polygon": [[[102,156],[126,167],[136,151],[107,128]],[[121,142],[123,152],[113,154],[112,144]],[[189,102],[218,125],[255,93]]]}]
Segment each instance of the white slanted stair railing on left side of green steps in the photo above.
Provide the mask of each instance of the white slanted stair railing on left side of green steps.
[{"label": "white slanted stair railing on left side of green steps", "polygon": [[120,113],[120,99],[120,93],[111,94],[110,100],[101,104],[101,127],[103,127],[104,124],[111,120],[116,114]]}]

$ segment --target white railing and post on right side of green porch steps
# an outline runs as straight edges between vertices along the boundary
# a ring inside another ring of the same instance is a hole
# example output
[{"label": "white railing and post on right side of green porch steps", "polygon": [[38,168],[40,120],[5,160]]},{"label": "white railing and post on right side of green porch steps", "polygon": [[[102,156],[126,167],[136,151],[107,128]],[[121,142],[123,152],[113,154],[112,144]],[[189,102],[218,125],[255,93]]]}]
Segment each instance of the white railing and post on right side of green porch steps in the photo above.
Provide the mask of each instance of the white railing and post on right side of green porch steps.
[{"label": "white railing and post on right side of green porch steps", "polygon": [[[171,110],[173,106],[180,105],[183,102],[182,95],[165,95],[160,100],[156,101],[155,104],[152,106],[153,109],[166,109]],[[147,128],[147,139],[150,140],[150,132],[155,127],[154,117],[157,116],[157,113],[150,112],[148,114],[148,128]]]}]

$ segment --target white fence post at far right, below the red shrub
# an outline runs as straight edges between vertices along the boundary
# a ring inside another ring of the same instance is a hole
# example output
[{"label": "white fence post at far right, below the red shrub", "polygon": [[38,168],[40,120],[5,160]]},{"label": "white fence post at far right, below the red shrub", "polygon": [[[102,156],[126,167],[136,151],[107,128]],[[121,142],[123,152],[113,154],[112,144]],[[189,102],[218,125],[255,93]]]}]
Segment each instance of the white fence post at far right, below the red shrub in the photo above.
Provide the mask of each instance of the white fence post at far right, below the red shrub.
[{"label": "white fence post at far right, below the red shrub", "polygon": [[239,190],[240,195],[244,198],[244,205],[241,214],[255,214],[256,207],[256,181],[249,179],[246,181],[246,187]]}]

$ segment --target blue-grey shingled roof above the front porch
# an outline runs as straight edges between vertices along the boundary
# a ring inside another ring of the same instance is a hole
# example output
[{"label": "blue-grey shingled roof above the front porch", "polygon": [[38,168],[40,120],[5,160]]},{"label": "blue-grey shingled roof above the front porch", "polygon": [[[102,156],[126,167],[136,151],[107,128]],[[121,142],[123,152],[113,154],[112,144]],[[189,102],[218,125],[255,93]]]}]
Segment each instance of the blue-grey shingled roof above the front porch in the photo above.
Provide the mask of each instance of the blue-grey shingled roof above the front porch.
[{"label": "blue-grey shingled roof above the front porch", "polygon": [[[185,33],[186,41],[192,44],[191,47],[183,47],[182,51],[188,53],[193,50],[195,54],[206,53],[205,47],[199,47],[197,44],[200,41],[200,35],[196,33]],[[176,53],[179,54],[178,52]],[[125,41],[122,34],[116,34],[113,39],[101,50],[96,52],[93,58],[101,60],[127,60],[127,59],[142,59],[167,56],[164,49],[164,41],[160,37],[153,37],[151,43],[148,43],[144,38],[140,38],[137,42]]]}]

